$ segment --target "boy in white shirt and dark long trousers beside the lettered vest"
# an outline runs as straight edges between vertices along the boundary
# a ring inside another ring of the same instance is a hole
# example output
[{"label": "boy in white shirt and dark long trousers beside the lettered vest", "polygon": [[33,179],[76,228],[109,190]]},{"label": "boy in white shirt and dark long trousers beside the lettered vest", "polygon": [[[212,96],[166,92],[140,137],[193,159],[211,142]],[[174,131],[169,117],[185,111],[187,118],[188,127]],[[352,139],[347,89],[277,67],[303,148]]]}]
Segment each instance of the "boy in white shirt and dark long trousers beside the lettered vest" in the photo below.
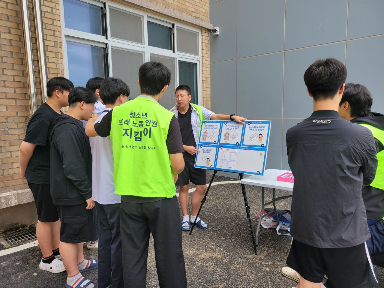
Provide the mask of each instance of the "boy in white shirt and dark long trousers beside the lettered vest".
[{"label": "boy in white shirt and dark long trousers beside the lettered vest", "polygon": [[[129,87],[121,79],[106,78],[100,86],[100,97],[105,108],[96,123],[115,106],[131,99]],[[111,138],[100,136],[89,139],[92,151],[92,199],[97,207],[99,233],[99,287],[123,287],[120,195],[114,193],[113,154]]]}]

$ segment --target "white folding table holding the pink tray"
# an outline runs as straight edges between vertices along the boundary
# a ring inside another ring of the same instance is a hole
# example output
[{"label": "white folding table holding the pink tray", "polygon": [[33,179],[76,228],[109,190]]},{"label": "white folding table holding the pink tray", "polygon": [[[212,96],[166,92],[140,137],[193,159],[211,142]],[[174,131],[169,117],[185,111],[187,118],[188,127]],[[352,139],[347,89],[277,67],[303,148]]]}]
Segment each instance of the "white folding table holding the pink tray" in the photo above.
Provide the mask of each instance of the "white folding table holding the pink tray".
[{"label": "white folding table holding the pink tray", "polygon": [[[293,183],[291,182],[283,182],[283,181],[278,181],[277,176],[286,173],[286,172],[291,172],[287,170],[278,170],[278,169],[266,169],[264,171],[264,175],[250,175],[249,177],[245,177],[241,180],[241,184],[246,184],[246,185],[253,185],[253,186],[259,186],[262,187],[262,208],[261,208],[261,213],[259,217],[259,222],[257,224],[257,230],[256,230],[256,246],[258,246],[258,241],[259,241],[259,230],[260,230],[260,225],[262,222],[262,218],[264,218],[266,215],[263,215],[264,211],[264,206],[273,204],[273,210],[275,210],[276,214],[276,224],[279,225],[279,217],[276,209],[276,202],[287,199],[292,197],[292,195],[286,195],[286,196],[281,196],[278,198],[275,198],[275,189],[281,189],[281,190],[288,190],[292,191],[293,190]],[[266,188],[272,188],[272,201],[265,203],[265,198],[264,198],[264,190]]]}]

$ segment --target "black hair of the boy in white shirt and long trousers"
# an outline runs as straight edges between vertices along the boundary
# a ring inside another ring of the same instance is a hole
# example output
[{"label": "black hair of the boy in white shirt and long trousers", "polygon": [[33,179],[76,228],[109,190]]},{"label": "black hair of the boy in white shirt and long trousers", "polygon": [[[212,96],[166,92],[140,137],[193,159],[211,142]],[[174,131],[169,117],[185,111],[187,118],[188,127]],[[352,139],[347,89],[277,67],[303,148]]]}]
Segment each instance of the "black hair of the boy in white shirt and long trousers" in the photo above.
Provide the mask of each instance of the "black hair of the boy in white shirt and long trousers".
[{"label": "black hair of the boy in white shirt and long trousers", "polygon": [[104,104],[115,104],[121,94],[129,96],[129,87],[118,78],[108,77],[100,86],[100,98]]}]

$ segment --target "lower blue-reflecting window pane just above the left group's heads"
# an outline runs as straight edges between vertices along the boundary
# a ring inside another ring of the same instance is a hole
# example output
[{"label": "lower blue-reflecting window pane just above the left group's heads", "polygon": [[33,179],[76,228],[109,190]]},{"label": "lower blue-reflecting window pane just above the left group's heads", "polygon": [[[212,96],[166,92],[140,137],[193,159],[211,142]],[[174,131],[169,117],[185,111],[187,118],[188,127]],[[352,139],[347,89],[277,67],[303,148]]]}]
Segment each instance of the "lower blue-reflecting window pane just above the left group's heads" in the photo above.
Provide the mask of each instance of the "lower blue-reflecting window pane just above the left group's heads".
[{"label": "lower blue-reflecting window pane just above the left group's heads", "polygon": [[106,48],[67,41],[68,72],[73,85],[85,87],[89,78],[106,78]]}]

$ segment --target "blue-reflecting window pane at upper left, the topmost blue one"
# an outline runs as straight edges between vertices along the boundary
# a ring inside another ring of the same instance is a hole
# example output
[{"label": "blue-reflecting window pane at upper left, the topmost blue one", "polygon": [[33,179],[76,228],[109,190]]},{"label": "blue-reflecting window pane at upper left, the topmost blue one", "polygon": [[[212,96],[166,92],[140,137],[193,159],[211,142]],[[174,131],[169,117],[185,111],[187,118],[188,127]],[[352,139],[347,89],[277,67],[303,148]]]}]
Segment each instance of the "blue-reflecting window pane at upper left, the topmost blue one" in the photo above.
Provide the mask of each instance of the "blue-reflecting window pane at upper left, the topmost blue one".
[{"label": "blue-reflecting window pane at upper left, the topmost blue one", "polygon": [[104,36],[103,7],[77,0],[64,0],[65,28]]}]

